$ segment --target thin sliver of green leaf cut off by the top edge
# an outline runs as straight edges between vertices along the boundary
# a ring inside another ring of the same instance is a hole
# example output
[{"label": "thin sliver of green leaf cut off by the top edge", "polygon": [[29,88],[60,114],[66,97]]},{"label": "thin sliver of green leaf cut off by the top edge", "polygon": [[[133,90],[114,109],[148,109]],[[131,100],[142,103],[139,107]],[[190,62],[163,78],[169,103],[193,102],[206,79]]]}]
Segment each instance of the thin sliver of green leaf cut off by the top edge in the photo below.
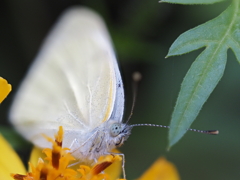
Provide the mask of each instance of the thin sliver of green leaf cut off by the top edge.
[{"label": "thin sliver of green leaf cut off by the top edge", "polygon": [[162,2],[174,3],[174,4],[213,4],[217,2],[222,2],[226,0],[161,0]]}]

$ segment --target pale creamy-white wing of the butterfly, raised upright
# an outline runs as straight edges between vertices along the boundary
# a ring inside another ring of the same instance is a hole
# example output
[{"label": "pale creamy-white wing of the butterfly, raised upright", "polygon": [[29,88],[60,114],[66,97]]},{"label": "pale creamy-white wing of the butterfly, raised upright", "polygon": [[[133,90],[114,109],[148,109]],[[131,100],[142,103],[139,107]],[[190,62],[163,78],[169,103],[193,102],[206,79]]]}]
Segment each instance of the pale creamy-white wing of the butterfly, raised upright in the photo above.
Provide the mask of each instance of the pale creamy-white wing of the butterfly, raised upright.
[{"label": "pale creamy-white wing of the butterfly, raised upright", "polygon": [[[122,120],[124,92],[102,19],[86,8],[68,10],[45,40],[10,111],[15,128],[45,147],[41,134],[85,134]],[[74,140],[74,137],[70,138]]]}]

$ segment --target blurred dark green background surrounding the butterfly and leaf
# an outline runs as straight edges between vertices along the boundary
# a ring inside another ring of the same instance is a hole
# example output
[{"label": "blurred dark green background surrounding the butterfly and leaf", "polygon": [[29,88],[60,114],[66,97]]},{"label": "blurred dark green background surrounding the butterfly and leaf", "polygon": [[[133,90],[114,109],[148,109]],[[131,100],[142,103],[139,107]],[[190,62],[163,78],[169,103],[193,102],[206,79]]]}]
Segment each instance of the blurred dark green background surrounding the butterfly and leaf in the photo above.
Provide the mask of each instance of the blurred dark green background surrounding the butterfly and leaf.
[{"label": "blurred dark green background surrounding the butterfly and leaf", "polygon": [[[1,104],[0,131],[27,162],[31,145],[23,143],[8,123],[14,93],[41,43],[66,8],[84,5],[99,12],[112,36],[125,91],[125,119],[132,104],[131,74],[140,71],[134,123],[169,125],[181,81],[201,50],[165,59],[173,41],[184,31],[219,15],[229,2],[183,6],[157,0],[2,0],[0,2],[0,76],[13,86]],[[128,179],[139,177],[158,157],[173,162],[183,180],[240,177],[240,66],[228,52],[225,74],[192,128],[218,129],[218,136],[188,132],[169,152],[168,130],[137,127],[120,149]]]}]

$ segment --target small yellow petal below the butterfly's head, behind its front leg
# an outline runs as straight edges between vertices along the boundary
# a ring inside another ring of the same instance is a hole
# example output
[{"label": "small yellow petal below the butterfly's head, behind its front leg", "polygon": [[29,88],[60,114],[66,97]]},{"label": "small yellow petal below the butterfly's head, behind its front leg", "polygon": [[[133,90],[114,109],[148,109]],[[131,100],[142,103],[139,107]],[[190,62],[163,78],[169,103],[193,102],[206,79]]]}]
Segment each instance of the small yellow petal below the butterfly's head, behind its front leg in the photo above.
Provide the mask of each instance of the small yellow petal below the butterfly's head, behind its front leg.
[{"label": "small yellow petal below the butterfly's head, behind its front leg", "polygon": [[[118,150],[113,150],[113,153],[120,153]],[[122,172],[122,161],[114,161],[111,166],[104,170],[109,175],[110,180],[116,180],[120,178]]]}]

